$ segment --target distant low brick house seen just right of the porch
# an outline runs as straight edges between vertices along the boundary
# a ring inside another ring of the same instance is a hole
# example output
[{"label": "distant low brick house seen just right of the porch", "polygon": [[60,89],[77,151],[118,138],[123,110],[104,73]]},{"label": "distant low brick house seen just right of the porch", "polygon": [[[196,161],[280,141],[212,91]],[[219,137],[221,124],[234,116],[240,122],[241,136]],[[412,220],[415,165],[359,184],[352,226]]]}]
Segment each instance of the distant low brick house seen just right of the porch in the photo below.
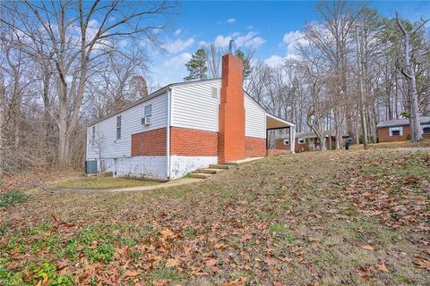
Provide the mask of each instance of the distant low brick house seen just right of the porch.
[{"label": "distant low brick house seen just right of the porch", "polygon": [[[331,146],[336,144],[336,130],[323,130],[323,136],[325,138],[325,146],[327,149],[330,149]],[[346,138],[348,138],[348,135],[342,135],[342,142]],[[290,150],[290,142],[291,140],[288,136],[280,136],[276,139],[276,149]],[[296,152],[316,151],[321,149],[321,143],[314,131],[299,132],[296,134],[294,148]]]}]

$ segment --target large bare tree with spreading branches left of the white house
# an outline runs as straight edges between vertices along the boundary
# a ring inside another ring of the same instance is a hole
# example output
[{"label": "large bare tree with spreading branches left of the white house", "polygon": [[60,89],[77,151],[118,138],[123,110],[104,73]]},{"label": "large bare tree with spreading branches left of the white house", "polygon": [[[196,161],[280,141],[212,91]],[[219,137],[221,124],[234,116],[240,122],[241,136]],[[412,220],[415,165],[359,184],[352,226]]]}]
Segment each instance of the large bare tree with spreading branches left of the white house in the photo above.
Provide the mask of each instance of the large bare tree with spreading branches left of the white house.
[{"label": "large bare tree with spreading branches left of the white house", "polygon": [[147,40],[158,46],[154,29],[163,27],[163,19],[172,11],[168,2],[140,3],[123,1],[83,4],[79,1],[33,3],[30,1],[3,4],[10,13],[18,13],[20,24],[3,21],[30,40],[34,29],[42,29],[45,45],[50,46],[50,59],[56,68],[58,112],[58,158],[61,164],[70,162],[69,147],[76,129],[86,83],[91,69],[106,55],[101,47],[112,46],[115,38]]}]

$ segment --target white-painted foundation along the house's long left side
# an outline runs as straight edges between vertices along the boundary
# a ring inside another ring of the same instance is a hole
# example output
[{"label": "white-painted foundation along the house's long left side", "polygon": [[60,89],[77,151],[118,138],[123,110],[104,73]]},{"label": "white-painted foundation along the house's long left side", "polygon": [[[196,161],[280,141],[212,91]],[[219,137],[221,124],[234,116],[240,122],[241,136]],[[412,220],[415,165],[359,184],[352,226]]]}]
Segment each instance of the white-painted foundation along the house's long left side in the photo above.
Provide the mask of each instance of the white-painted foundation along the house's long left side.
[{"label": "white-painted foundation along the house's long left side", "polygon": [[[148,178],[168,180],[167,156],[135,156],[101,160],[105,171],[114,177]],[[97,164],[100,171],[100,164]]]}]

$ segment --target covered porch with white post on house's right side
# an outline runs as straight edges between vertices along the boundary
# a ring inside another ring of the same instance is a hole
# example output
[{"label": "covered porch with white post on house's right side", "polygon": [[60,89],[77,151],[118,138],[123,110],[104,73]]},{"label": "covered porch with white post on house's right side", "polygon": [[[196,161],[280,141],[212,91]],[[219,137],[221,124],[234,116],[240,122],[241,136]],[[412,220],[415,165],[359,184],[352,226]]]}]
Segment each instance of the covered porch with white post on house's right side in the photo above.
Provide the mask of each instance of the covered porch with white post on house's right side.
[{"label": "covered porch with white post on house's right side", "polygon": [[[266,156],[269,155],[270,149],[276,149],[276,145],[271,147],[269,135],[274,130],[287,130],[289,138],[289,150],[294,153],[296,145],[296,124],[280,119],[272,114],[266,114]],[[273,138],[275,139],[275,137]],[[273,140],[275,144],[275,140]]]}]

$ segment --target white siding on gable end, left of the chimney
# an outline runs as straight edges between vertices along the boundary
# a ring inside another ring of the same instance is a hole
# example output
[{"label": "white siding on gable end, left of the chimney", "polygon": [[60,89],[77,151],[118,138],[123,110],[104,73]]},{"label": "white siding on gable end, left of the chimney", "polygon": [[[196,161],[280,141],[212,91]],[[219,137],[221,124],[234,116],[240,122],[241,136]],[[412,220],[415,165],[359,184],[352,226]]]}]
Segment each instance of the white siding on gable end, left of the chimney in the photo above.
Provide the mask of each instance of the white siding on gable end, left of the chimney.
[{"label": "white siding on gable end, left of the chimney", "polygon": [[217,132],[219,97],[212,88],[220,85],[221,80],[208,80],[174,87],[171,126]]}]

